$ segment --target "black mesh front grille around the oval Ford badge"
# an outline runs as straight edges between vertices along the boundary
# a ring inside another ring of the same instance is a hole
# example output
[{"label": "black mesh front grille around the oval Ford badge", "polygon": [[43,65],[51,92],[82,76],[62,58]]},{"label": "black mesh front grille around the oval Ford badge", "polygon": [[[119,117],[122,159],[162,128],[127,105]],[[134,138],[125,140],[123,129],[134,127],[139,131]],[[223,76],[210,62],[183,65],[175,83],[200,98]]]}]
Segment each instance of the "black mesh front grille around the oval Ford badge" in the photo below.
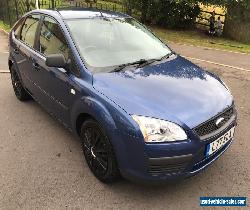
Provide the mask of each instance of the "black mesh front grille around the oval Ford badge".
[{"label": "black mesh front grille around the oval Ford badge", "polygon": [[[218,114],[217,116],[199,125],[193,130],[200,137],[206,136],[220,129],[223,125],[225,125],[231,119],[233,115],[234,115],[234,107],[230,107],[229,109],[225,110],[223,113]],[[219,125],[216,125],[216,121],[220,118],[224,118],[224,120]]]}]

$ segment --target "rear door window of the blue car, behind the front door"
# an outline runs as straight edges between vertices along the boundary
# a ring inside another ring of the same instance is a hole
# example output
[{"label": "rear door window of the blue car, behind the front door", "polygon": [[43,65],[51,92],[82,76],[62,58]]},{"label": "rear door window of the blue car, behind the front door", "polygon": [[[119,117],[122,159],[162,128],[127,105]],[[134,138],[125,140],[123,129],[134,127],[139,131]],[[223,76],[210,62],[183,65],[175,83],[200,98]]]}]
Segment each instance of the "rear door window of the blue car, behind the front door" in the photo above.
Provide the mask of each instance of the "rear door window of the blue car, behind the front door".
[{"label": "rear door window of the blue car, behind the front door", "polygon": [[25,23],[22,27],[20,39],[29,45],[34,47],[36,30],[39,24],[40,15],[31,15],[26,18]]}]

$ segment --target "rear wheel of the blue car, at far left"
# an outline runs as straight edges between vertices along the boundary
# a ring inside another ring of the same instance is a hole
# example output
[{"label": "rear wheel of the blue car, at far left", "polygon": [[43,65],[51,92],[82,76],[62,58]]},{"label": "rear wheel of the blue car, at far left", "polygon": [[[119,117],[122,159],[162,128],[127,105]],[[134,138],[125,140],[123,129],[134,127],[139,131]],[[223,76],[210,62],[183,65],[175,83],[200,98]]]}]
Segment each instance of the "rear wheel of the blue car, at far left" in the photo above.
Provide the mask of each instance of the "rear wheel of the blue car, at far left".
[{"label": "rear wheel of the blue car, at far left", "polygon": [[31,99],[29,93],[24,89],[20,76],[18,75],[14,66],[11,67],[11,81],[16,97],[20,101],[27,101]]}]

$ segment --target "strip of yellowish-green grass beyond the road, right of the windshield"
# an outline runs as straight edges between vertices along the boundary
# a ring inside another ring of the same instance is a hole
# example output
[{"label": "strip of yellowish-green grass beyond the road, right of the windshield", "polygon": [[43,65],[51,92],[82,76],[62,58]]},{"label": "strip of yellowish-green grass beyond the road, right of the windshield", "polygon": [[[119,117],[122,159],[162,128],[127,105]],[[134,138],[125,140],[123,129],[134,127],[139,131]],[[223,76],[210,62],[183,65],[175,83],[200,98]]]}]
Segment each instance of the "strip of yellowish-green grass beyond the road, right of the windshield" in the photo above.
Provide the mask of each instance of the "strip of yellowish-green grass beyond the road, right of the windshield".
[{"label": "strip of yellowish-green grass beyond the road, right of the windshield", "polygon": [[150,27],[165,42],[175,42],[250,54],[250,45],[225,38],[210,37],[198,30],[176,31]]}]

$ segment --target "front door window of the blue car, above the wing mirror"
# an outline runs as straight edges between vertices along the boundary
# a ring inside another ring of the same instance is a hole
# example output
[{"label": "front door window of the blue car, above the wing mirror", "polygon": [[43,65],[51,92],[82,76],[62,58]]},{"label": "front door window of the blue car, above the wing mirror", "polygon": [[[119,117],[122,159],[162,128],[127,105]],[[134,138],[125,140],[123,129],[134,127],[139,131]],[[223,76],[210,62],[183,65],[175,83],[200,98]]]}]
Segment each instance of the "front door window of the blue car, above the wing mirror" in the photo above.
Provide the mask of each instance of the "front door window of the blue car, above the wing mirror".
[{"label": "front door window of the blue car, above the wing mirror", "polygon": [[40,34],[40,52],[45,56],[63,54],[69,59],[69,47],[58,23],[45,16]]}]

